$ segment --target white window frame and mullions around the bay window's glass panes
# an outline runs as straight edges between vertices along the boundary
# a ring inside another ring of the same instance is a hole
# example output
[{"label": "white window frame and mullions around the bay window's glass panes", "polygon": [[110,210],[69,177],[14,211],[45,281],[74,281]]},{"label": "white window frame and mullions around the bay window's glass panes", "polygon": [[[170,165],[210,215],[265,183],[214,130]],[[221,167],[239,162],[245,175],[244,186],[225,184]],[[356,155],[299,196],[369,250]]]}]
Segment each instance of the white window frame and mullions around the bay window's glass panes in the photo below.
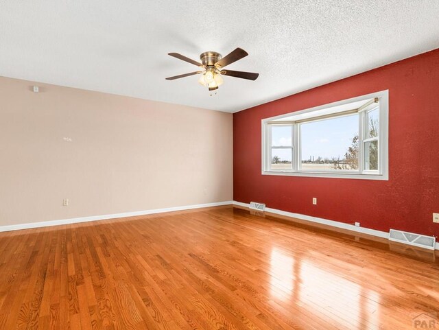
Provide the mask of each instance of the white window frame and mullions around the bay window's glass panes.
[{"label": "white window frame and mullions around the bay window's glass panes", "polygon": [[[307,176],[307,177],[317,177],[317,178],[351,178],[351,179],[366,179],[366,180],[388,180],[388,90],[379,91],[377,93],[371,93],[368,95],[361,95],[359,97],[353,97],[351,99],[344,99],[338,102],[333,102],[330,104],[324,104],[322,106],[316,106],[313,108],[308,108],[305,110],[294,111],[293,113],[286,113],[284,115],[278,115],[275,117],[265,118],[261,120],[261,174],[263,175],[274,175],[274,176]],[[368,104],[364,108],[359,108],[346,111],[340,110],[340,112],[331,113],[329,115],[317,115],[315,112],[317,110],[324,110],[327,108],[333,108],[337,106],[343,106],[345,104],[350,104],[353,102],[361,102],[362,100],[368,99],[379,99],[378,104]],[[368,132],[368,113],[375,110],[379,106],[379,126],[378,126],[378,137],[368,138],[366,134]],[[344,115],[349,115],[349,112],[357,113],[359,115],[359,169],[358,171],[352,170],[302,170],[301,169],[301,148],[300,148],[300,124],[305,122],[312,122],[317,120],[330,119],[335,117],[342,117]],[[313,115],[314,113],[314,115]],[[282,118],[292,117],[300,115],[305,116],[305,119],[300,119],[297,121],[277,121]],[[272,126],[292,126],[292,169],[272,169]],[[378,141],[378,170],[366,170],[366,159],[365,159],[365,145],[368,141]]]}]

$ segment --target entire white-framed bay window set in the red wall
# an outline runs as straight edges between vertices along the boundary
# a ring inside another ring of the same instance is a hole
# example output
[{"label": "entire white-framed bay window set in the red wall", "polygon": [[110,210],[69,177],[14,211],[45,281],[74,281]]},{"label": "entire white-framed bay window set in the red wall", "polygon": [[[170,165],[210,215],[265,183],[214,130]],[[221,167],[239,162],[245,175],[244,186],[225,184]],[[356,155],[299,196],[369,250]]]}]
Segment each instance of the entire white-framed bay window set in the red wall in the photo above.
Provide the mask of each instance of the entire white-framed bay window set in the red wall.
[{"label": "entire white-framed bay window set in the red wall", "polygon": [[262,174],[388,180],[388,91],[262,121]]}]

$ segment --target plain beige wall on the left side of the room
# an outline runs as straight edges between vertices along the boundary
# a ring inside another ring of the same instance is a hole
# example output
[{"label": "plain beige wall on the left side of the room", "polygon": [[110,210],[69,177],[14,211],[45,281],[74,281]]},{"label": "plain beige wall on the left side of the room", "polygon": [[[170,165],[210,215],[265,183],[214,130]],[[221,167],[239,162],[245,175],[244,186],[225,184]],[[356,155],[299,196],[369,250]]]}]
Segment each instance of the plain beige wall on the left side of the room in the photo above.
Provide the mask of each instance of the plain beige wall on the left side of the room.
[{"label": "plain beige wall on the left side of the room", "polygon": [[232,200],[230,113],[32,85],[0,77],[0,226]]}]

